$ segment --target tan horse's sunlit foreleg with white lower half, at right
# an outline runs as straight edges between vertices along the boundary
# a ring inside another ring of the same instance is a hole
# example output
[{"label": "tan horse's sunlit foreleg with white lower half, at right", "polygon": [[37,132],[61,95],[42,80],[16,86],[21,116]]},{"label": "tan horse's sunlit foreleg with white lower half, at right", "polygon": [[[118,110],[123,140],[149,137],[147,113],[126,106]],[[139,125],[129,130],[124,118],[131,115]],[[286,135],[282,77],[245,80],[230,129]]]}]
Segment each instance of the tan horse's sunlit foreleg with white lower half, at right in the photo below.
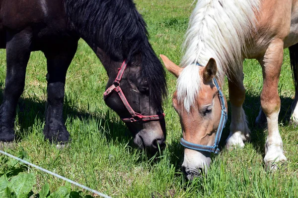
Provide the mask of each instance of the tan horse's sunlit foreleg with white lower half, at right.
[{"label": "tan horse's sunlit foreleg with white lower half, at right", "polygon": [[267,118],[268,137],[265,144],[264,162],[266,168],[277,168],[276,162],[286,161],[283,153],[283,141],[278,128],[278,114],[281,99],[278,94],[278,81],[284,55],[284,42],[273,40],[264,56],[259,59],[263,71],[263,90],[261,107]]}]

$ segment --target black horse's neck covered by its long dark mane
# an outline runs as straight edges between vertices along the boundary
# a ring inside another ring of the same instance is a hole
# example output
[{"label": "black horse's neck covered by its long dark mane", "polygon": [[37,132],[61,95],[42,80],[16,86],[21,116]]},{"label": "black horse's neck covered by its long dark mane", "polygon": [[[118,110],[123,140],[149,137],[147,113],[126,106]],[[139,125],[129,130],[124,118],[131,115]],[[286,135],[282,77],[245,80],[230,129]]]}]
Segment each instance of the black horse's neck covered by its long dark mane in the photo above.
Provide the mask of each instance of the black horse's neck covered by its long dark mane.
[{"label": "black horse's neck covered by its long dark mane", "polygon": [[69,26],[93,49],[109,76],[124,59],[153,51],[131,0],[65,0],[65,5]]}]

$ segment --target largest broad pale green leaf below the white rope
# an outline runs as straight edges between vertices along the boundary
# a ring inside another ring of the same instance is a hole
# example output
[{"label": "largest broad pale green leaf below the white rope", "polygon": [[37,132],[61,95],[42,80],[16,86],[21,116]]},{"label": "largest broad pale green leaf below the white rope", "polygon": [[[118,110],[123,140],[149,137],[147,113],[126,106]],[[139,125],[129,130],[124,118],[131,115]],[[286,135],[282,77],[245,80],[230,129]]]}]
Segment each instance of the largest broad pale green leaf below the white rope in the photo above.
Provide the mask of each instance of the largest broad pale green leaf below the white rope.
[{"label": "largest broad pale green leaf below the white rope", "polygon": [[33,173],[19,173],[17,176],[12,177],[10,182],[16,198],[27,198],[36,184],[36,178]]}]

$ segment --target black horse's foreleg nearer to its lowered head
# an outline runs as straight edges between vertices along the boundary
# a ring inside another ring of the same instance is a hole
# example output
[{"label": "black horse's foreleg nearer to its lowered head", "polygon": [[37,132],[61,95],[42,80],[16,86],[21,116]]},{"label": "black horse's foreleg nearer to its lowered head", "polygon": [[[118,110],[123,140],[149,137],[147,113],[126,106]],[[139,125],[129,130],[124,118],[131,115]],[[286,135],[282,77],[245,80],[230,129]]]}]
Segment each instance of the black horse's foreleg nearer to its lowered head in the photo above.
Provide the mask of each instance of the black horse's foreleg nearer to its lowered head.
[{"label": "black horse's foreleg nearer to its lowered head", "polygon": [[68,42],[44,51],[48,65],[48,106],[44,128],[45,139],[51,143],[69,141],[69,132],[63,120],[64,85],[67,69],[74,57],[77,42]]}]

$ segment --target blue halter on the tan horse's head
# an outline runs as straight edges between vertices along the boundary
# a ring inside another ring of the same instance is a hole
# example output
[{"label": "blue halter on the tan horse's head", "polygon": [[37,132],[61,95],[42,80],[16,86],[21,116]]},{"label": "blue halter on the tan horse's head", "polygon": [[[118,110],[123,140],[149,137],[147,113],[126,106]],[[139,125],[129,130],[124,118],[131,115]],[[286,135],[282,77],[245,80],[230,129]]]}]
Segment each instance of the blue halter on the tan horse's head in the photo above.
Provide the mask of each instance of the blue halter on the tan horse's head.
[{"label": "blue halter on the tan horse's head", "polygon": [[[199,66],[202,66],[199,63],[196,63],[196,64],[199,65]],[[219,143],[220,143],[220,140],[221,140],[221,136],[222,136],[222,133],[223,133],[225,123],[227,121],[227,110],[225,108],[224,94],[223,94],[223,92],[221,90],[221,87],[219,86],[216,78],[213,78],[213,82],[214,82],[214,85],[216,86],[216,88],[218,90],[218,95],[219,95],[219,99],[220,99],[221,106],[222,106],[221,121],[220,121],[219,128],[216,132],[214,145],[212,147],[204,146],[204,145],[197,145],[197,144],[194,144],[194,143],[187,142],[183,138],[181,138],[180,144],[183,147],[190,148],[190,149],[193,149],[193,150],[214,152],[214,153],[217,154],[220,151],[220,149],[218,147],[219,147]]]}]

